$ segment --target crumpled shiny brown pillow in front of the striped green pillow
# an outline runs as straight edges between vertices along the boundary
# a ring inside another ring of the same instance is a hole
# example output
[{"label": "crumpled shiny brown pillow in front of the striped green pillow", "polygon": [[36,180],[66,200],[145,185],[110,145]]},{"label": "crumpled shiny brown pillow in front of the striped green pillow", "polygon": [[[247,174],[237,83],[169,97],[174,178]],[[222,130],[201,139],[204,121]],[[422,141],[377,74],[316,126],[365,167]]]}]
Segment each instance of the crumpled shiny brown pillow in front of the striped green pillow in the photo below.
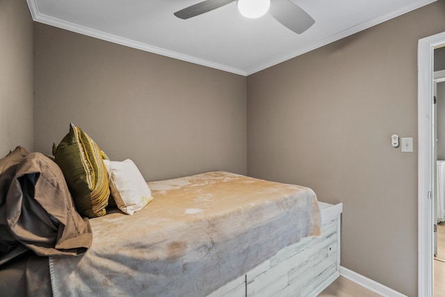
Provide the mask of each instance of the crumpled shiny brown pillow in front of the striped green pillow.
[{"label": "crumpled shiny brown pillow in front of the striped green pillow", "polygon": [[91,246],[88,218],[76,212],[60,168],[39,152],[17,166],[5,214],[16,241],[37,255],[76,256]]}]

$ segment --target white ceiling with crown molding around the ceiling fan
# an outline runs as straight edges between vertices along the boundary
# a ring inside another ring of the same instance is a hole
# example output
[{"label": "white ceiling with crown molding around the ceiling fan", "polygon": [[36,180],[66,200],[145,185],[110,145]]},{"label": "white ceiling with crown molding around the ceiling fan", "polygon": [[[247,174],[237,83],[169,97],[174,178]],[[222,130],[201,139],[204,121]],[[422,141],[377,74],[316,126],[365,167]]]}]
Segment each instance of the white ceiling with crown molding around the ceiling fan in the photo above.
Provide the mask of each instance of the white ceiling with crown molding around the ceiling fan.
[{"label": "white ceiling with crown molding around the ceiling fan", "polygon": [[315,19],[300,35],[236,1],[185,20],[173,13],[202,0],[27,1],[36,22],[249,75],[437,0],[291,0]]}]

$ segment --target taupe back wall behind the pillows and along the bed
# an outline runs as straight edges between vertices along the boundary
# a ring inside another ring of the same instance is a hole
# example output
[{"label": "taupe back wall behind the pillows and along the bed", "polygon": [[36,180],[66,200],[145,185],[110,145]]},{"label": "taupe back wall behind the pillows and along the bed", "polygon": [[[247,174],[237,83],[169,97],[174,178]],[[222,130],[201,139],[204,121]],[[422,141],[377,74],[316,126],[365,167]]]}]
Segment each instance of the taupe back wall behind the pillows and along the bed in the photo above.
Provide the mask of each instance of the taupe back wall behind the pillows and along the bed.
[{"label": "taupe back wall behind the pillows and along the bed", "polygon": [[145,179],[246,173],[246,78],[34,25],[35,150],[70,122]]}]

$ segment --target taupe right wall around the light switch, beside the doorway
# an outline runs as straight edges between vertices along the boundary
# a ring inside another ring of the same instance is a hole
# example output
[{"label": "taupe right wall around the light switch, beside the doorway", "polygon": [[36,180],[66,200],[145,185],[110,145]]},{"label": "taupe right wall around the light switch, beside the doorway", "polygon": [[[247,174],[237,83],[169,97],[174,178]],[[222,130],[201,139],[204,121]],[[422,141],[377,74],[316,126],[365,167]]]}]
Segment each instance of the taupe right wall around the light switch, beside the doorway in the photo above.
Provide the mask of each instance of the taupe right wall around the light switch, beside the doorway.
[{"label": "taupe right wall around the light switch, beside the doorway", "polygon": [[[417,44],[445,1],[248,77],[248,175],[343,202],[341,265],[417,295]],[[414,152],[391,146],[414,137]]]}]

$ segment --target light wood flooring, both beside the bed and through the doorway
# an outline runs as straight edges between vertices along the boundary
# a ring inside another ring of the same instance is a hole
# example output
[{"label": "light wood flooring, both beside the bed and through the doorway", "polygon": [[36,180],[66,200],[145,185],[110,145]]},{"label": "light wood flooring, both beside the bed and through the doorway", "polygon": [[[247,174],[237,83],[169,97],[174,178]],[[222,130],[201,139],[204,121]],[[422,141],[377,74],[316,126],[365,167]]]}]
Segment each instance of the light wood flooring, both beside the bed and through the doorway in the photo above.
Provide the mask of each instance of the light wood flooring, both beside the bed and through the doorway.
[{"label": "light wood flooring, both beside the bed and through the doorway", "polygon": [[[440,261],[439,259],[443,260]],[[318,297],[377,297],[375,294],[358,284],[339,277],[332,282]],[[437,225],[437,259],[434,261],[434,296],[445,296],[445,222]]]}]

